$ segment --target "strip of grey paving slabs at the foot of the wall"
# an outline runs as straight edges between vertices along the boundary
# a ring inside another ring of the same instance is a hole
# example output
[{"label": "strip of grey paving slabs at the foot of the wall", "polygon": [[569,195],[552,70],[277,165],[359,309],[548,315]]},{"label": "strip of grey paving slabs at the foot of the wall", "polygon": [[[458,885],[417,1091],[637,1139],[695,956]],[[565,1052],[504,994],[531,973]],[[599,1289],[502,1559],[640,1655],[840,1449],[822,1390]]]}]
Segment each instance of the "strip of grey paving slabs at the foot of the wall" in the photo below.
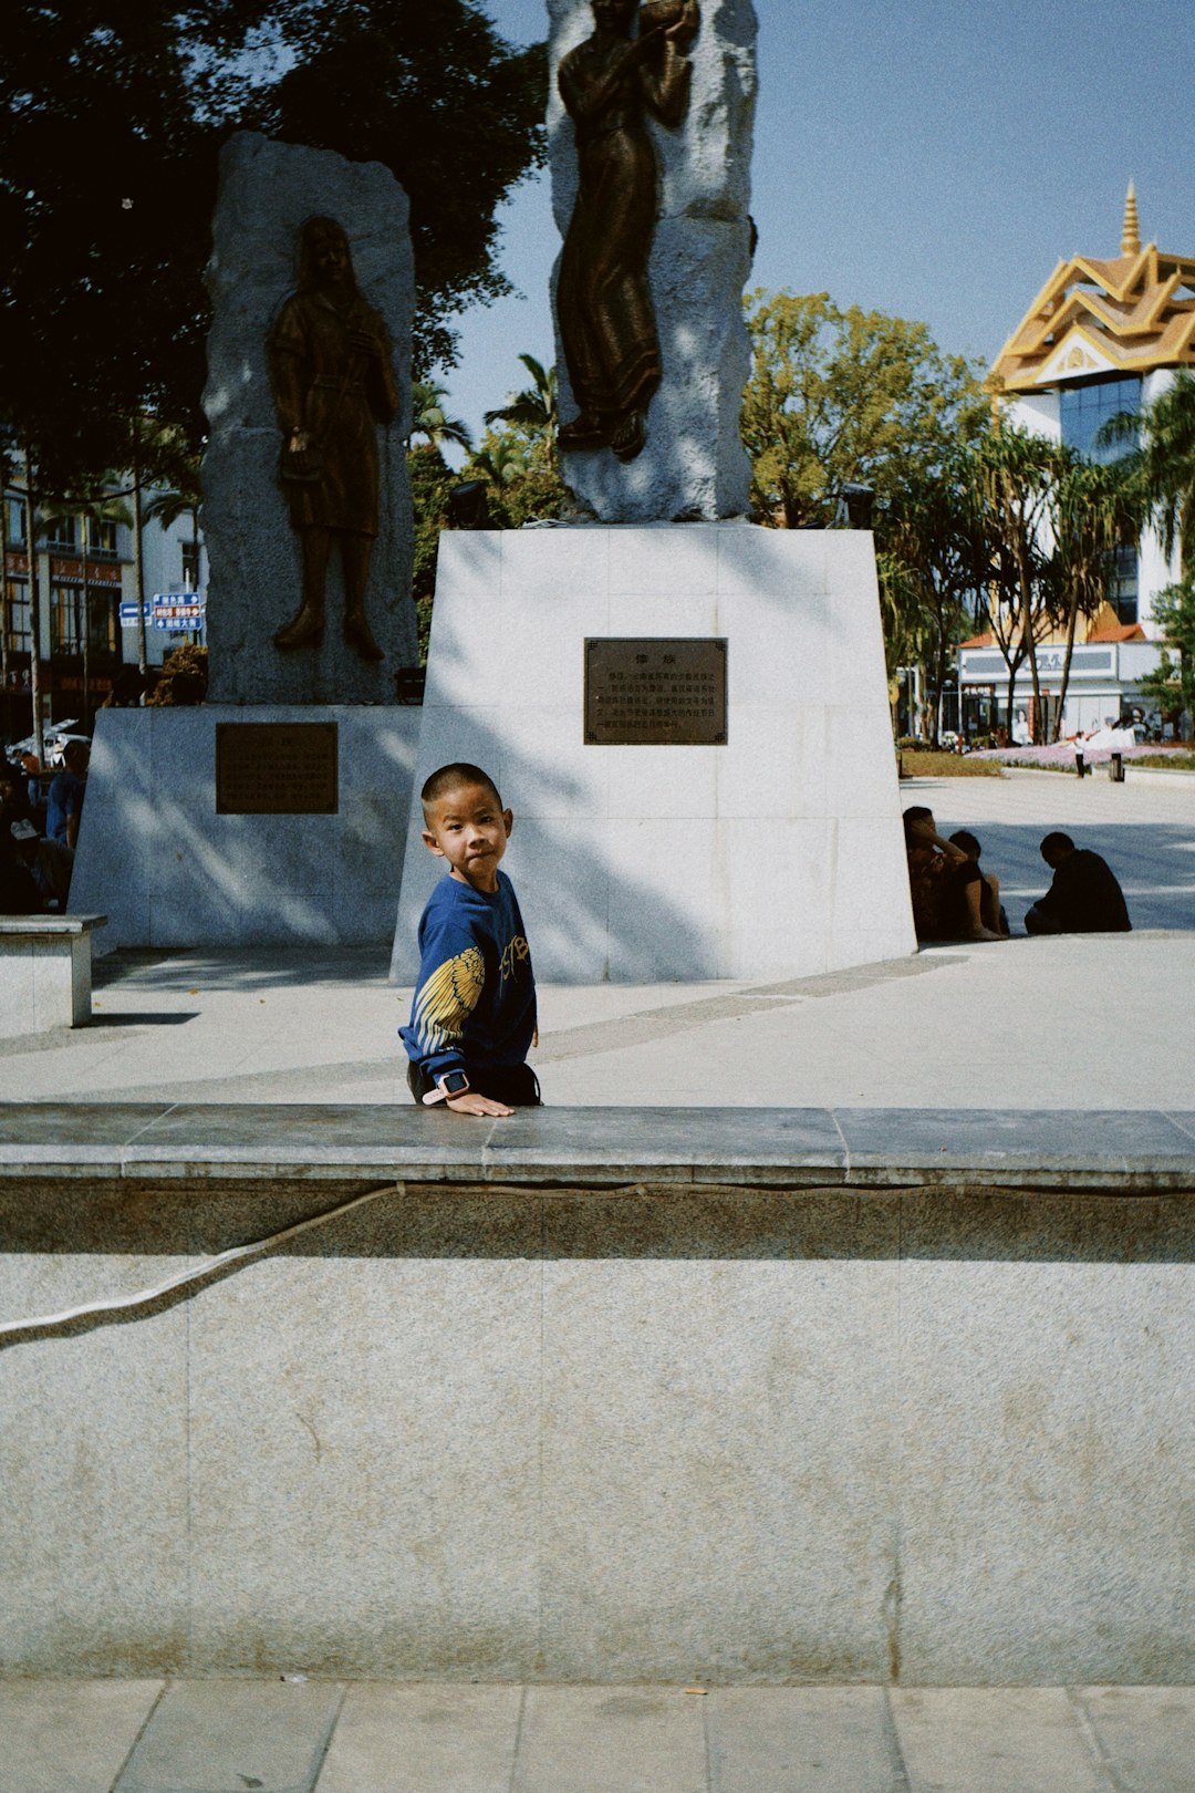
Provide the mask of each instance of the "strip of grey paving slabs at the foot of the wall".
[{"label": "strip of grey paving slabs at the foot of the wall", "polygon": [[1191,1793],[1172,1687],[0,1682],[4,1793]]}]

